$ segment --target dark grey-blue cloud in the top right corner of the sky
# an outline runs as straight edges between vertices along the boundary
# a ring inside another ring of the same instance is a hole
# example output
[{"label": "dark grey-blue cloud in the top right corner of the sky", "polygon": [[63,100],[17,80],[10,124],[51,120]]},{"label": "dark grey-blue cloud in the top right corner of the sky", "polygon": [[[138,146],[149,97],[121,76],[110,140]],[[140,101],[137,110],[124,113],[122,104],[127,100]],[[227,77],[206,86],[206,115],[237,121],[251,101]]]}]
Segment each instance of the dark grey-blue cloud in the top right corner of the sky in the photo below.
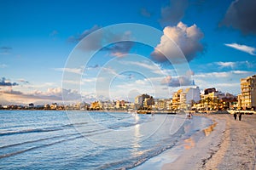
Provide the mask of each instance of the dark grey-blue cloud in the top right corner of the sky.
[{"label": "dark grey-blue cloud in the top right corner of the sky", "polygon": [[256,1],[236,0],[230,4],[221,26],[232,26],[244,34],[256,34]]}]

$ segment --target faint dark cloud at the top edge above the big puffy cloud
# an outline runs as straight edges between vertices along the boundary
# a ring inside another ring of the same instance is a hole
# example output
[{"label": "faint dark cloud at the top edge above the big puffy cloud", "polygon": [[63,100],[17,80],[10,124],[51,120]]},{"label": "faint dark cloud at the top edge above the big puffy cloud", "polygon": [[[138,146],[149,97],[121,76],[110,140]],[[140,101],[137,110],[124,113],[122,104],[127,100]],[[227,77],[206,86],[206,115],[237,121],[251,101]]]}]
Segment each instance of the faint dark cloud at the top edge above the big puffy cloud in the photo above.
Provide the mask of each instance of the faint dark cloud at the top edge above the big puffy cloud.
[{"label": "faint dark cloud at the top edge above the big puffy cloud", "polygon": [[161,8],[160,23],[163,26],[174,26],[183,18],[186,8],[189,7],[188,0],[170,0],[170,3]]}]

